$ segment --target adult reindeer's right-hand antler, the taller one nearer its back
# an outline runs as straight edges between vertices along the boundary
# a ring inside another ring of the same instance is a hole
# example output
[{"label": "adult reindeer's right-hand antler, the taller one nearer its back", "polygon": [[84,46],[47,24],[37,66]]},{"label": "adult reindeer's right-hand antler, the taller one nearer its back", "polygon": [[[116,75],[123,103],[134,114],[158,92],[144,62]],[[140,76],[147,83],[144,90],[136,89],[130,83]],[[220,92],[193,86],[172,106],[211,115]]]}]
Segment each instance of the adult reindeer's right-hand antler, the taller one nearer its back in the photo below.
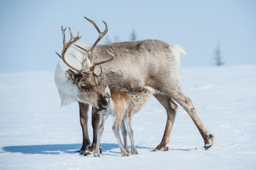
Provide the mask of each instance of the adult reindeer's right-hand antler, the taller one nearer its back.
[{"label": "adult reindeer's right-hand antler, the taller one nearer its back", "polygon": [[94,62],[93,62],[93,50],[94,50],[94,47],[97,45],[97,43],[101,40],[101,38],[108,32],[108,26],[106,25],[106,22],[102,20],[102,21],[104,22],[104,24],[105,24],[105,30],[104,30],[103,32],[100,32],[98,26],[95,24],[95,22],[94,22],[93,20],[91,20],[91,19],[89,19],[89,18],[87,18],[87,17],[85,17],[85,16],[84,16],[84,18],[86,18],[89,22],[91,22],[92,25],[96,28],[96,30],[97,30],[98,33],[99,33],[99,37],[98,37],[98,39],[94,42],[94,44],[93,44],[93,46],[91,47],[90,50],[86,50],[86,49],[84,49],[84,48],[82,48],[81,46],[76,45],[76,44],[75,44],[75,46],[77,46],[77,47],[79,47],[81,50],[86,51],[86,52],[89,53],[90,61],[91,61],[91,63],[92,63],[92,67],[90,68],[90,70],[93,72],[93,75],[94,75],[95,77],[97,77],[97,79],[101,82],[101,79],[104,77],[104,75],[102,75],[102,74],[103,74],[102,68],[101,68],[101,66],[100,66],[100,75],[96,75],[95,72],[94,72],[95,66],[100,65],[100,64],[103,64],[103,63],[106,63],[106,62],[110,62],[110,61],[112,61],[112,60],[114,59],[115,56],[114,56],[114,54],[113,54],[113,51],[110,49],[111,52],[108,52],[108,53],[109,53],[112,57],[111,57],[109,60],[102,61],[102,62],[99,62],[99,63],[94,63]]}]

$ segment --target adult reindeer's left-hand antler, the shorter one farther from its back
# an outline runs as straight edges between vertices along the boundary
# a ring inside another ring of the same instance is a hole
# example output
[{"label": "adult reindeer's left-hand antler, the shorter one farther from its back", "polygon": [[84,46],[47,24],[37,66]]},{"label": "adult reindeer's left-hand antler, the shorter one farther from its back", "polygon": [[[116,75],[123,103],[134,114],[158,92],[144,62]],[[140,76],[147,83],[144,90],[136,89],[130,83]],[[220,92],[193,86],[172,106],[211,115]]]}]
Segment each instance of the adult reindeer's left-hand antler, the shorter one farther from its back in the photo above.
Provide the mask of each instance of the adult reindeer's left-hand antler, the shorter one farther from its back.
[{"label": "adult reindeer's left-hand antler, the shorter one farther from its back", "polygon": [[[69,31],[70,31],[70,40],[69,42],[66,43],[66,39],[65,39],[65,31],[66,31],[67,28],[63,29],[63,26],[61,26],[61,31],[62,31],[62,37],[63,37],[63,50],[62,50],[62,53],[61,53],[61,56],[55,52],[61,59],[62,61],[67,65],[69,66],[70,68],[76,70],[77,72],[80,72],[77,68],[73,67],[72,65],[70,65],[66,60],[65,60],[65,53],[67,52],[68,48],[70,47],[70,45],[72,45],[74,42],[76,42],[78,39],[80,39],[82,36],[80,36],[79,32],[77,34],[77,36],[74,38],[73,37],[73,34],[72,34],[72,31],[69,27]],[[81,72],[80,72],[81,73]]]}]

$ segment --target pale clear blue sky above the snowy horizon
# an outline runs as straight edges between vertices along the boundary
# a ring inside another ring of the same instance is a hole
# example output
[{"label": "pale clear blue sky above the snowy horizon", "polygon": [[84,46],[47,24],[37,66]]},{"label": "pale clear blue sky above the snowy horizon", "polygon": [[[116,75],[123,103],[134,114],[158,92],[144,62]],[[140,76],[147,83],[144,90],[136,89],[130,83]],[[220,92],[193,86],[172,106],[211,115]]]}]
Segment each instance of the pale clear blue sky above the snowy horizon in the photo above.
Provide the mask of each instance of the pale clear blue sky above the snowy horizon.
[{"label": "pale clear blue sky above the snowy horizon", "polygon": [[[160,39],[187,52],[181,67],[215,65],[220,45],[226,65],[256,64],[256,1],[1,1],[0,72],[55,70],[61,26],[94,43],[94,20],[109,40]],[[99,44],[106,43],[104,37]],[[69,36],[66,38],[69,39]]]}]

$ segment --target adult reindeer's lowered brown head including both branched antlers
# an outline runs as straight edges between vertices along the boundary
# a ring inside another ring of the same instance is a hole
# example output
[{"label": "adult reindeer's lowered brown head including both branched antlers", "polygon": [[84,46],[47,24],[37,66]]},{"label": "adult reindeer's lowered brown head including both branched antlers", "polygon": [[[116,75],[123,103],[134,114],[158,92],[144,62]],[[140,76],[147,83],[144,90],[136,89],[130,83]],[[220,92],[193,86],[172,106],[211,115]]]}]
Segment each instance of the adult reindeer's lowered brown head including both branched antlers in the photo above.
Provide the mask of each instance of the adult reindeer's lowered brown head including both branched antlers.
[{"label": "adult reindeer's lowered brown head including both branched antlers", "polygon": [[[62,50],[61,56],[58,53],[56,54],[61,58],[61,60],[66,65],[68,65],[71,68],[66,71],[66,76],[70,81],[72,81],[78,87],[77,98],[79,99],[79,102],[90,104],[97,110],[102,110],[108,107],[108,102],[106,102],[106,100],[102,95],[105,89],[105,84],[104,84],[104,73],[100,64],[112,61],[114,59],[114,54],[110,49],[111,52],[109,51],[109,54],[112,57],[109,60],[102,61],[99,63],[93,62],[94,47],[100,41],[100,39],[106,34],[106,32],[108,32],[108,27],[106,25],[106,22],[103,21],[105,24],[105,30],[104,32],[100,32],[99,28],[96,26],[93,20],[90,20],[87,17],[84,17],[84,18],[89,20],[94,25],[94,27],[99,32],[99,37],[95,41],[95,43],[93,44],[90,50],[86,50],[75,44],[81,50],[86,51],[87,52],[86,54],[88,54],[87,59],[84,59],[84,56],[82,58],[82,68],[78,70],[77,68],[67,63],[67,61],[65,60],[65,53],[68,50],[69,46],[81,38],[81,36],[79,35],[79,32],[78,32],[78,35],[74,38],[72,35],[72,31],[69,28],[71,38],[70,38],[70,41],[66,43],[65,41],[66,28],[63,29],[63,27],[61,27],[62,36],[63,36],[63,50]],[[86,61],[86,65],[84,65],[85,61]],[[99,75],[96,75],[94,72],[95,67],[97,65],[100,66]]]}]

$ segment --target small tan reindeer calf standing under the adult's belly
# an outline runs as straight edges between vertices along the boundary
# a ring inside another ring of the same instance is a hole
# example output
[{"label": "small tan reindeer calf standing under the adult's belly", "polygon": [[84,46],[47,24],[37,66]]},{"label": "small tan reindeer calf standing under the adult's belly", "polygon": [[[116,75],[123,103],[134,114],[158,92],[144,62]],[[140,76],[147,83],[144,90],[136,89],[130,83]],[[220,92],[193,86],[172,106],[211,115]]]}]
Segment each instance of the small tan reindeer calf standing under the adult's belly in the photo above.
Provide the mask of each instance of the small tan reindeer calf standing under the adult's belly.
[{"label": "small tan reindeer calf standing under the adult's belly", "polygon": [[[110,114],[115,117],[115,122],[112,129],[117,139],[122,156],[129,156],[129,148],[126,139],[127,132],[131,140],[131,153],[138,154],[133,139],[133,129],[131,123],[132,115],[138,112],[144,106],[152,94],[153,89],[150,87],[140,88],[136,90],[134,94],[128,94],[126,92],[119,91],[118,89],[110,90],[108,86],[106,87],[104,97],[110,105],[108,109],[98,111],[98,114],[101,114],[101,118],[97,134],[96,150],[94,152],[95,157],[99,157],[100,138],[103,133],[105,120]],[[125,128],[125,124],[127,126],[127,130]],[[121,128],[122,131],[123,144],[121,141],[119,128]]]}]

